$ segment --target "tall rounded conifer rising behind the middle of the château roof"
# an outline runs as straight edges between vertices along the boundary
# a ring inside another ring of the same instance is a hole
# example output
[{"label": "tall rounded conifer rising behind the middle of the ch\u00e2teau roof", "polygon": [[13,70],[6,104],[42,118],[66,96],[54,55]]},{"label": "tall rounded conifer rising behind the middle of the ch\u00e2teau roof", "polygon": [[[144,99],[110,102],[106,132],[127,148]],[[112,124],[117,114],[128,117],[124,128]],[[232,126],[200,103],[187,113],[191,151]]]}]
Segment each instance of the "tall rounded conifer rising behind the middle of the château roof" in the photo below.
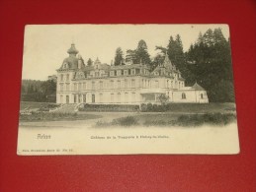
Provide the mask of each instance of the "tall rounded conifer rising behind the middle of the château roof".
[{"label": "tall rounded conifer rising behind the middle of the ch\u00e2teau roof", "polygon": [[151,59],[147,52],[147,45],[143,39],[139,40],[137,43],[137,48],[135,51],[135,63],[142,63],[146,65],[151,64]]}]

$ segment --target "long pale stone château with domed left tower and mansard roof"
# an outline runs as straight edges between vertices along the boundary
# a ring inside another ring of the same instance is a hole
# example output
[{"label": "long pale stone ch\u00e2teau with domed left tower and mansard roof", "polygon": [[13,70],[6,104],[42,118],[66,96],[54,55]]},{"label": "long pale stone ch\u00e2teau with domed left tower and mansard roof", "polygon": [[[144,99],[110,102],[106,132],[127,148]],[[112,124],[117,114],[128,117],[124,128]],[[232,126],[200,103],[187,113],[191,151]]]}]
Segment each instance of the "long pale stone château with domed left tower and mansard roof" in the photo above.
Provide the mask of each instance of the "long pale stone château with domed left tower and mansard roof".
[{"label": "long pale stone ch\u00e2teau with domed left tower and mansard roof", "polygon": [[160,95],[168,96],[169,102],[209,102],[207,92],[197,83],[185,87],[168,55],[150,72],[142,63],[113,66],[98,58],[87,66],[74,44],[67,52],[69,57],[57,69],[57,103],[154,103]]}]

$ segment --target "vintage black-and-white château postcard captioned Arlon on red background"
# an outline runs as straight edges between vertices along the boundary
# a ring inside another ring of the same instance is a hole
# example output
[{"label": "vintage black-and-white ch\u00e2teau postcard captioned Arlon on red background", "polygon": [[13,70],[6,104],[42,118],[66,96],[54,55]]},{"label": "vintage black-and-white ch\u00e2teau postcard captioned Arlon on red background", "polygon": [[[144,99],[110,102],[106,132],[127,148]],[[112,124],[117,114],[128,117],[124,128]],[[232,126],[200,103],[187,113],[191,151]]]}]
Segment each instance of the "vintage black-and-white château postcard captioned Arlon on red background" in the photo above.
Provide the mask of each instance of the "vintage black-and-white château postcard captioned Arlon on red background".
[{"label": "vintage black-and-white ch\u00e2teau postcard captioned Arlon on red background", "polygon": [[238,154],[228,26],[26,26],[17,153]]}]

